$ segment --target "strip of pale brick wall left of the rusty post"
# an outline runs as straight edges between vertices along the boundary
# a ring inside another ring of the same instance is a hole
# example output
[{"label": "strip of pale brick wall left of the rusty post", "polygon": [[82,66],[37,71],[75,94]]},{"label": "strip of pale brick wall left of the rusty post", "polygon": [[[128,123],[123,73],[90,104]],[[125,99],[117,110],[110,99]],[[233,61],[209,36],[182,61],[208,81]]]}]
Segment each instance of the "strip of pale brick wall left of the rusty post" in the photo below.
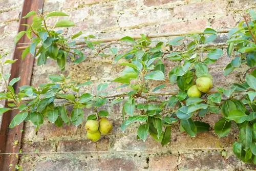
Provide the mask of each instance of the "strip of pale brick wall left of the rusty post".
[{"label": "strip of pale brick wall left of the rusty post", "polygon": [[[0,60],[12,59],[14,52],[14,37],[18,32],[19,15],[22,11],[24,1],[1,0],[0,1],[0,54],[9,53],[6,58]],[[4,72],[10,72],[10,65],[5,66]],[[0,92],[4,90],[3,83],[0,81]],[[0,106],[3,107],[4,101],[0,100]],[[0,126],[1,126],[0,116]]]}]

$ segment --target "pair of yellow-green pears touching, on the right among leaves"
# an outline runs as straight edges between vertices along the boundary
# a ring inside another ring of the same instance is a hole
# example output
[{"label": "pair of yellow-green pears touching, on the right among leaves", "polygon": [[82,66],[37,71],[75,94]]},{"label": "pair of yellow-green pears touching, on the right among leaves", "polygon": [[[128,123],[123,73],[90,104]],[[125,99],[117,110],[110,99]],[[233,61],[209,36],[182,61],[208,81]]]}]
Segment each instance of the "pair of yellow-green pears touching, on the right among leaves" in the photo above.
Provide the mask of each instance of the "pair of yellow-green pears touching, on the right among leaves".
[{"label": "pair of yellow-green pears touching, on the right among leaves", "polygon": [[212,79],[209,77],[200,77],[196,80],[196,85],[187,90],[188,97],[201,97],[202,92],[207,93],[212,88]]}]

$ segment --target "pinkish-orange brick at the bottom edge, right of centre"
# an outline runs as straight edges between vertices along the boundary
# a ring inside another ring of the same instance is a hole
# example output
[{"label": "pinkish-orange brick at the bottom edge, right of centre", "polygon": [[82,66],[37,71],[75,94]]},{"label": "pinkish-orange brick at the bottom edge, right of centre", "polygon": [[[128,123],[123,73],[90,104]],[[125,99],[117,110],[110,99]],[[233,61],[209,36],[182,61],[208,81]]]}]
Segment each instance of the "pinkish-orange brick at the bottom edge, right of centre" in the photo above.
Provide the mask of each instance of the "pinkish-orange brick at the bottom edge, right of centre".
[{"label": "pinkish-orange brick at the bottom edge, right of centre", "polygon": [[148,169],[154,171],[178,170],[178,155],[151,157]]}]

